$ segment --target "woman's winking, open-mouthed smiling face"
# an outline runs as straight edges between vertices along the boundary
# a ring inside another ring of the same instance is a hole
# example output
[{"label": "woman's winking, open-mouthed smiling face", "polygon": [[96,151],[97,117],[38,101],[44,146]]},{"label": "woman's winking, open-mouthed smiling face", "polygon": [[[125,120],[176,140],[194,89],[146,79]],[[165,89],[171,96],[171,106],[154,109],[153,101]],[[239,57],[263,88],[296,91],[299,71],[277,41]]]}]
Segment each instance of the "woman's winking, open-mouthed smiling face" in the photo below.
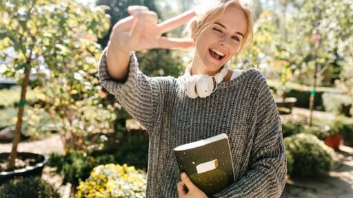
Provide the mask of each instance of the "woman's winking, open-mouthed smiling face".
[{"label": "woman's winking, open-mouthed smiling face", "polygon": [[195,41],[193,74],[214,75],[219,68],[239,52],[247,30],[245,14],[239,8],[228,7],[223,15],[205,28]]}]

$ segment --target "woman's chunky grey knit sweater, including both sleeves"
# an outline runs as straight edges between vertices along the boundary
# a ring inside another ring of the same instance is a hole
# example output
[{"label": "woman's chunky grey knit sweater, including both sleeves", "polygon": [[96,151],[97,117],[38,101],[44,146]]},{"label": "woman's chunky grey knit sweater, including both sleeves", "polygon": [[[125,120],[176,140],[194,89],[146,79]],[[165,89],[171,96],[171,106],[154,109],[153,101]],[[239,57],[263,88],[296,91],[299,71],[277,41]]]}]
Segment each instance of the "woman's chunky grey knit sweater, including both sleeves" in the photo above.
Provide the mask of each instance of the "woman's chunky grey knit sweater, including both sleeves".
[{"label": "woman's chunky grey knit sweater, including both sleeves", "polygon": [[220,133],[230,141],[236,182],[214,197],[279,197],[286,175],[281,120],[257,69],[220,83],[207,98],[188,98],[182,78],[145,76],[130,56],[128,80],[108,74],[105,52],[101,85],[147,129],[150,137],[146,197],[178,197],[180,173],[173,148]]}]

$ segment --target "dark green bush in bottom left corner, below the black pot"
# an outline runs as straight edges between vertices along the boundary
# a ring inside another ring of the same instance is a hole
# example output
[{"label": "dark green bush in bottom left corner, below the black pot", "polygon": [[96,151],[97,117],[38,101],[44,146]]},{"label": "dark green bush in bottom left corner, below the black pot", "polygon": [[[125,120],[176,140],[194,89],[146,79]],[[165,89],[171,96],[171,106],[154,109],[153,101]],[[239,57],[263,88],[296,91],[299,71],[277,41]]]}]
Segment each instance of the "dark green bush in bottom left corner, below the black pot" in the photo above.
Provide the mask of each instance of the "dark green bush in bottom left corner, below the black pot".
[{"label": "dark green bush in bottom left corner, below the black pot", "polygon": [[60,198],[59,193],[50,184],[39,177],[13,179],[0,186],[1,198],[38,197]]}]

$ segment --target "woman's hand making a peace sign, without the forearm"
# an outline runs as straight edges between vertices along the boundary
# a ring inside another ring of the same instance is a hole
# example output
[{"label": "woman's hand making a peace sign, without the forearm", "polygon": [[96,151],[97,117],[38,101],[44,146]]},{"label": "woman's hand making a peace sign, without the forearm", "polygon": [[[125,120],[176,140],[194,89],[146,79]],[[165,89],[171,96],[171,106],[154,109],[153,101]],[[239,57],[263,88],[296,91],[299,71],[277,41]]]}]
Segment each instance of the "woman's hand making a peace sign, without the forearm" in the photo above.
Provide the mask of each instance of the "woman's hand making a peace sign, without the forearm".
[{"label": "woman's hand making a peace sign, without the forearm", "polygon": [[161,34],[174,30],[195,16],[194,11],[184,12],[177,17],[158,22],[156,12],[148,10],[145,6],[129,6],[131,15],[118,21],[112,30],[110,44],[117,49],[130,52],[149,50],[153,48],[192,47],[192,39],[176,39],[161,36]]}]

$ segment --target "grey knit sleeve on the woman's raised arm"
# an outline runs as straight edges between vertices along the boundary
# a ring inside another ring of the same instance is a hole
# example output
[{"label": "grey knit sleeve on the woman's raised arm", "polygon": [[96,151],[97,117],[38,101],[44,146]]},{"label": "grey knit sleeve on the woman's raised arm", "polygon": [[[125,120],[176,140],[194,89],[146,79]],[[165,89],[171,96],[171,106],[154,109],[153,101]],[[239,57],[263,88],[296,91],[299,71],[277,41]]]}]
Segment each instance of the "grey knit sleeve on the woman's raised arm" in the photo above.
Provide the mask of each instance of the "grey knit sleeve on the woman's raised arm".
[{"label": "grey knit sleeve on the woman's raised arm", "polygon": [[[157,116],[159,104],[159,88],[154,78],[145,76],[140,70],[134,52],[130,54],[128,79],[119,82],[108,73],[106,49],[99,61],[99,81],[113,94],[132,118],[140,122],[146,129],[152,128]],[[149,130],[148,130],[149,131]]]}]

